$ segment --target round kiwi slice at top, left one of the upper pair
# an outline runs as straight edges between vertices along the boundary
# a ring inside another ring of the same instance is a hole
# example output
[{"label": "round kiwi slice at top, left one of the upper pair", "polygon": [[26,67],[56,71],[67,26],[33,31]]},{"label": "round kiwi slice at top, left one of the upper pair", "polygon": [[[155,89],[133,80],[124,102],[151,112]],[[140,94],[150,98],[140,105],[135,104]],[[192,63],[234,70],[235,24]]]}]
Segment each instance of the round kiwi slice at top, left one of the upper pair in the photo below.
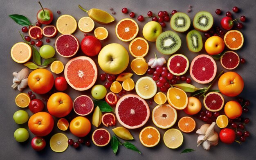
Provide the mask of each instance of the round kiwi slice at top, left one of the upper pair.
[{"label": "round kiwi slice at top, left one of the upper pair", "polygon": [[171,28],[177,32],[185,32],[189,29],[190,18],[186,13],[177,12],[175,13],[170,21]]}]

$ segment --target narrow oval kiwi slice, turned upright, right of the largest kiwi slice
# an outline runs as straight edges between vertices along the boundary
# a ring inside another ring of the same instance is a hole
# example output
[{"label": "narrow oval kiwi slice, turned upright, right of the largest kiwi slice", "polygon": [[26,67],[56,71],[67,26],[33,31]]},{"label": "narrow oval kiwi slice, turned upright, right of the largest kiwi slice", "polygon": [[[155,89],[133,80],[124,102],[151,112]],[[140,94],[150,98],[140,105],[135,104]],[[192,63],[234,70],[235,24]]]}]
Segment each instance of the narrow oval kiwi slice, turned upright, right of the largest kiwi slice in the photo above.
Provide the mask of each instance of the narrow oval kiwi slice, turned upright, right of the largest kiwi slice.
[{"label": "narrow oval kiwi slice, turned upright, right of the largest kiwi slice", "polygon": [[191,52],[199,52],[203,48],[202,36],[198,31],[192,30],[186,35],[186,44]]}]

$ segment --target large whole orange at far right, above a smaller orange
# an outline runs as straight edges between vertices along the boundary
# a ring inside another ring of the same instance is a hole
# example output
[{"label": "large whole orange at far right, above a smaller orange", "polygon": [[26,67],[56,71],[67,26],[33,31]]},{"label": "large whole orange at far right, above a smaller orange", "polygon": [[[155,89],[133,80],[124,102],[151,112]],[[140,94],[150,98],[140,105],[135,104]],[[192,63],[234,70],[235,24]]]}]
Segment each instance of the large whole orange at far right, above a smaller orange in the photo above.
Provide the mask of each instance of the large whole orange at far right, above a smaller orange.
[{"label": "large whole orange at far right, above a smaller orange", "polygon": [[220,76],[218,87],[222,94],[226,96],[237,96],[243,91],[243,78],[236,72],[226,72]]}]

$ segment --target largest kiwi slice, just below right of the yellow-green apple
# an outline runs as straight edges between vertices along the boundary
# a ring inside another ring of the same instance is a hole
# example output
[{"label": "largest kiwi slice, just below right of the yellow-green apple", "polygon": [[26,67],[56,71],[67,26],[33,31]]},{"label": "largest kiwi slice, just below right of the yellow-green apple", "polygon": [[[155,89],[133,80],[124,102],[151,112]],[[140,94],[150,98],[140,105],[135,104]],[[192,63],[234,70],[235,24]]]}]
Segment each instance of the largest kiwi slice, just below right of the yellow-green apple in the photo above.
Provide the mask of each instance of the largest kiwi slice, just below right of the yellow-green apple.
[{"label": "largest kiwi slice, just below right of the yellow-green apple", "polygon": [[173,31],[165,31],[157,37],[155,44],[160,53],[171,55],[180,49],[181,39]]}]

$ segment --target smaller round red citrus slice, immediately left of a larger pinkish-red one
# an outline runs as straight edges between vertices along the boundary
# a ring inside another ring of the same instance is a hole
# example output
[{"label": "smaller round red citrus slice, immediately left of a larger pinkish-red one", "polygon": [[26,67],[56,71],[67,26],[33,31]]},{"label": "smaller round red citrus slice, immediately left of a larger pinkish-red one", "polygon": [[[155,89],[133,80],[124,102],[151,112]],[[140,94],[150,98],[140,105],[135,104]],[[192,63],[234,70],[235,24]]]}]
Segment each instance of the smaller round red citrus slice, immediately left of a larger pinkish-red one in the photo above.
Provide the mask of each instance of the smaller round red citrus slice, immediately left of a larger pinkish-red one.
[{"label": "smaller round red citrus slice, immediately left of a larger pinkish-red one", "polygon": [[168,59],[167,67],[173,75],[184,75],[189,69],[189,59],[182,54],[172,55]]}]

